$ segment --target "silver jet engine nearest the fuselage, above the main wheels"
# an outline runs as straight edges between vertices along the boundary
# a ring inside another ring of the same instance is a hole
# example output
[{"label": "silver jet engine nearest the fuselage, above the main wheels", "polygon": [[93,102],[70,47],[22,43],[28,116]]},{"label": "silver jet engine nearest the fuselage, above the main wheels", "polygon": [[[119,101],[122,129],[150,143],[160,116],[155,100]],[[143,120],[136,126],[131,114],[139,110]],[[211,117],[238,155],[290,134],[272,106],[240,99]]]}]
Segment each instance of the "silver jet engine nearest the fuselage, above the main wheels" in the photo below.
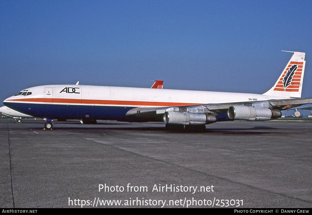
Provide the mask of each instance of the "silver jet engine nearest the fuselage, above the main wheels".
[{"label": "silver jet engine nearest the fuselage, above the main wheels", "polygon": [[212,115],[185,111],[166,111],[163,114],[163,121],[167,124],[205,125],[214,123],[216,120],[216,117]]}]

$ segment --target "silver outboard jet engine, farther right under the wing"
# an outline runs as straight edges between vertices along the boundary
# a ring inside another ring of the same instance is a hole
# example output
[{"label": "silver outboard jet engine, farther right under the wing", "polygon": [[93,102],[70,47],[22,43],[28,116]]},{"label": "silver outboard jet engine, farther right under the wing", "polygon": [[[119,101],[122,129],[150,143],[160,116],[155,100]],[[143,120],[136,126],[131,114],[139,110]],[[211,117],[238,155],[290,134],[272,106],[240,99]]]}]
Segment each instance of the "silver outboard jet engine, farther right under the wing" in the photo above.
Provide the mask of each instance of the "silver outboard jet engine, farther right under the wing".
[{"label": "silver outboard jet engine, farther right under the wing", "polygon": [[282,116],[279,110],[269,108],[255,108],[252,106],[234,105],[227,110],[231,120],[272,120]]}]

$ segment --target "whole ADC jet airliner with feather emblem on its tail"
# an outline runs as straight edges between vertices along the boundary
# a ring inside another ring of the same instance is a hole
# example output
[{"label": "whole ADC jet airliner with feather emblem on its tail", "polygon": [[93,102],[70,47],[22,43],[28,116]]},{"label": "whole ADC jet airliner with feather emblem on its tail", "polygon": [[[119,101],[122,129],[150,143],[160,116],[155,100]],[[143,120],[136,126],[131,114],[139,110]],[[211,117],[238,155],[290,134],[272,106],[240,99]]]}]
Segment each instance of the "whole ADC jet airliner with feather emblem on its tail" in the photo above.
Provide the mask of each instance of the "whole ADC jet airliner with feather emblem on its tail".
[{"label": "whole ADC jet airliner with feather emblem on its tail", "polygon": [[46,119],[165,122],[166,128],[205,129],[228,120],[271,120],[281,110],[312,103],[300,99],[305,53],[292,52],[275,85],[264,94],[169,90],[114,86],[45,85],[30,87],[4,105]]}]

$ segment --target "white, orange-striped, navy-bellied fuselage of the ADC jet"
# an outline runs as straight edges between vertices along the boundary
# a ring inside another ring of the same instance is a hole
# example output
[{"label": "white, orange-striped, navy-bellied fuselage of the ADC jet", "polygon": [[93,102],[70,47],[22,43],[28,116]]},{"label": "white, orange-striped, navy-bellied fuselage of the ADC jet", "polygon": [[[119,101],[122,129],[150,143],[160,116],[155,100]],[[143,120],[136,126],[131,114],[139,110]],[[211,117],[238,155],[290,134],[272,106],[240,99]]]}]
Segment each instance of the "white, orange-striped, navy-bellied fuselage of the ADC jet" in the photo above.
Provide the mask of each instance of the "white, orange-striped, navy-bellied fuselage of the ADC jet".
[{"label": "white, orange-striped, navy-bellied fuselage of the ADC jet", "polygon": [[46,85],[23,90],[4,104],[12,109],[46,118],[122,120],[134,107],[170,107],[285,99],[251,93],[169,90],[114,86]]}]

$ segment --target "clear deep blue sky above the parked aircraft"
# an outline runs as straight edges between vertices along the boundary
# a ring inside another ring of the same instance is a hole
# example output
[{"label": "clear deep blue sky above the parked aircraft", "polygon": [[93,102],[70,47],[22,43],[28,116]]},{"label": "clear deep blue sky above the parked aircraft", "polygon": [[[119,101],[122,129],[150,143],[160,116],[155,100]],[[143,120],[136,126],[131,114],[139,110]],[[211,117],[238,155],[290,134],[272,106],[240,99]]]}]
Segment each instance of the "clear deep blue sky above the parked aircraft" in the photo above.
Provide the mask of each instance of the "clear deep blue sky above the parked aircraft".
[{"label": "clear deep blue sky above the parked aircraft", "polygon": [[310,1],[0,1],[0,99],[46,84],[264,93],[306,52]]}]

